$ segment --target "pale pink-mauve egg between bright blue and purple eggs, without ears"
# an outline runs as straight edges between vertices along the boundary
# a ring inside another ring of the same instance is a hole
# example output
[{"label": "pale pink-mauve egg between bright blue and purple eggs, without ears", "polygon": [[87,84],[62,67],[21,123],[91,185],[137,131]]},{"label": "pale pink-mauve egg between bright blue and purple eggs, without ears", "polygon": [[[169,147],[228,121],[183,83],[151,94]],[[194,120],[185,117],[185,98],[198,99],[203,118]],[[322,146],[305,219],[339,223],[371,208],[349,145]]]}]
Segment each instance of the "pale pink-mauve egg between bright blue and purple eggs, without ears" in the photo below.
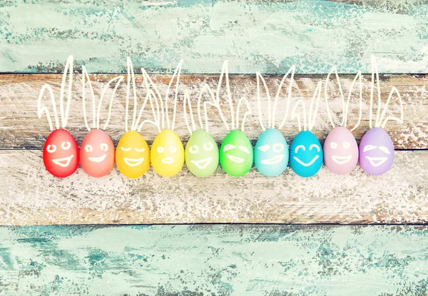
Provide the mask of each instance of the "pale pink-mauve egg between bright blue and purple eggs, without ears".
[{"label": "pale pink-mauve egg between bright blue and purple eggs, without ears", "polygon": [[358,163],[358,145],[352,133],[337,126],[324,142],[325,166],[337,175],[350,173]]}]

